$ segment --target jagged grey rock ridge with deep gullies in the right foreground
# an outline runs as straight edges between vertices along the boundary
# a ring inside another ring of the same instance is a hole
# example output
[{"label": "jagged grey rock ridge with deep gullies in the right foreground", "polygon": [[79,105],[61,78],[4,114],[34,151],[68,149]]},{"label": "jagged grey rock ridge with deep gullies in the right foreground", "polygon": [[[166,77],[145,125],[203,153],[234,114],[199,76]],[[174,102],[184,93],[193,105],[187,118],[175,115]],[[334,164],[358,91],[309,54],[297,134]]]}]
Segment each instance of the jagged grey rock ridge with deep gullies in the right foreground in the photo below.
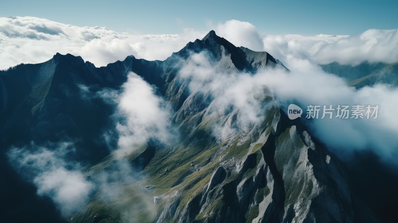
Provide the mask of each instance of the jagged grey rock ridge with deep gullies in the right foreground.
[{"label": "jagged grey rock ridge with deep gullies in the right foreground", "polygon": [[277,106],[267,114],[250,132],[210,143],[215,148],[188,160],[201,168],[162,194],[157,222],[356,222],[336,158]]}]

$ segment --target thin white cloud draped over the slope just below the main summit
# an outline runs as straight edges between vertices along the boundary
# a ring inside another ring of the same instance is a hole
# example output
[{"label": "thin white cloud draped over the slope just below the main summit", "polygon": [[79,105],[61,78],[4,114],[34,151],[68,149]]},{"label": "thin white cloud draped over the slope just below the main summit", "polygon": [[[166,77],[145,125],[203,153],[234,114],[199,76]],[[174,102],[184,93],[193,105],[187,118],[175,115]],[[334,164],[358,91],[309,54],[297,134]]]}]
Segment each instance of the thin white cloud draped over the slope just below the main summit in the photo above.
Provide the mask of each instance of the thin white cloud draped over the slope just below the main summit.
[{"label": "thin white cloud draped over the slope just below the main summit", "polygon": [[[251,74],[241,73],[236,68],[225,70],[224,62],[214,63],[206,52],[201,52],[191,55],[179,73],[181,78],[189,81],[192,95],[211,95],[213,101],[208,111],[217,111],[219,115],[236,115],[236,122],[232,125],[213,123],[213,133],[221,140],[250,131],[256,123],[262,122],[265,111],[276,106],[272,103],[262,105],[260,102],[266,94],[264,86],[255,83]],[[272,94],[267,96],[272,97]],[[235,111],[231,111],[231,108]]]}]

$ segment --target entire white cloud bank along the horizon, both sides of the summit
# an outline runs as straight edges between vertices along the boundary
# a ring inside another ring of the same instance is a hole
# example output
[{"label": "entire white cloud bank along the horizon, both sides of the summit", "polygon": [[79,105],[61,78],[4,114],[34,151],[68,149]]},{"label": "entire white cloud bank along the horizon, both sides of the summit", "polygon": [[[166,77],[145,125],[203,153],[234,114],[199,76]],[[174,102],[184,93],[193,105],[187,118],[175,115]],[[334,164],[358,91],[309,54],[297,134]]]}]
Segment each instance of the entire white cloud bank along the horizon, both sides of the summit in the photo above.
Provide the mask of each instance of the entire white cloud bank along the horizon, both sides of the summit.
[{"label": "entire white cloud bank along the horizon, both sides of the summit", "polygon": [[[259,34],[253,24],[234,19],[209,29],[236,46],[267,51],[288,67],[292,57],[317,64],[398,62],[398,29],[369,29],[356,36],[266,35]],[[206,32],[191,28],[179,34],[134,35],[29,16],[0,17],[0,69],[20,63],[41,63],[57,52],[82,56],[96,66],[123,60],[128,55],[164,60]]]}]

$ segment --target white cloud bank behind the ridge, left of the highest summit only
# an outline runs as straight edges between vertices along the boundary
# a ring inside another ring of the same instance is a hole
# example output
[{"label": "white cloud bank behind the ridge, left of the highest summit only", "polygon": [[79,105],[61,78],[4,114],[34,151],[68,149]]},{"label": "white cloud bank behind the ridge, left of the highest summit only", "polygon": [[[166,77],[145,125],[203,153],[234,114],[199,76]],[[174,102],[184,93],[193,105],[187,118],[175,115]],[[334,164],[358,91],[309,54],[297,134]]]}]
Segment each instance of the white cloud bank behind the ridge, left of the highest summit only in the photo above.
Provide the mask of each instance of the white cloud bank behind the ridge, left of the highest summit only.
[{"label": "white cloud bank behind the ridge, left of the highest summit only", "polygon": [[105,66],[128,55],[164,60],[197,36],[187,29],[181,34],[134,35],[106,27],[79,27],[37,17],[0,17],[0,69],[20,63],[41,63],[55,53],[81,56]]}]

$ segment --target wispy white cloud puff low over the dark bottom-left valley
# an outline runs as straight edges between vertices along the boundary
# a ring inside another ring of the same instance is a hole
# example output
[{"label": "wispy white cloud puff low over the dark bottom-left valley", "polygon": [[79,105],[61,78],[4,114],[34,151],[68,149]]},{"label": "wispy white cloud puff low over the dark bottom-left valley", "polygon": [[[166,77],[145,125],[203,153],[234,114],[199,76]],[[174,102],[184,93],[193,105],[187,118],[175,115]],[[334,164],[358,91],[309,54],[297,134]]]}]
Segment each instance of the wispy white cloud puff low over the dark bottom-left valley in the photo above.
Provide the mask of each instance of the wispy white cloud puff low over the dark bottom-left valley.
[{"label": "wispy white cloud puff low over the dark bottom-left valley", "polygon": [[68,216],[87,205],[94,189],[94,184],[80,171],[80,164],[69,159],[73,152],[69,142],[46,146],[32,142],[10,148],[7,156],[13,168],[37,187],[38,195],[50,197]]}]

